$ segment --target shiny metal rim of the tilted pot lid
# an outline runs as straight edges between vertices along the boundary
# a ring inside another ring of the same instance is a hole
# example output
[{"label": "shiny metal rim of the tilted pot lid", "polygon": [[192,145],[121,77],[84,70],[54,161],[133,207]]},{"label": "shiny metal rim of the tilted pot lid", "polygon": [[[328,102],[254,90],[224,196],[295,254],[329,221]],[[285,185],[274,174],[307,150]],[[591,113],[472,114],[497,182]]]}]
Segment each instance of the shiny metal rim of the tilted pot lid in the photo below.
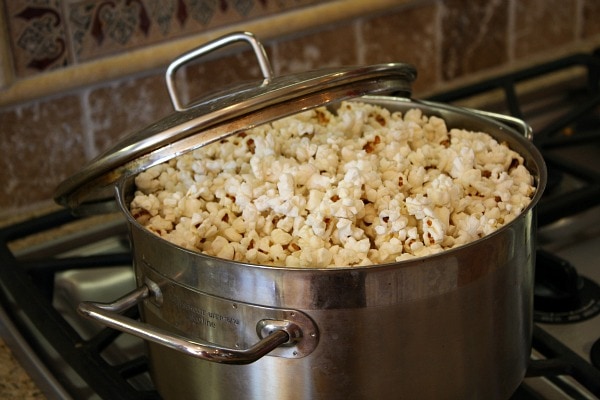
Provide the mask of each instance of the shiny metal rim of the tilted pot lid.
[{"label": "shiny metal rim of the tilted pot lid", "polygon": [[[283,100],[280,97],[277,101],[273,99],[271,103],[267,104],[257,102],[249,109],[244,109],[240,105],[231,106],[228,109],[223,109],[221,117],[218,119],[207,118],[206,115],[190,119],[162,131],[159,134],[161,135],[160,140],[163,140],[163,136],[173,140],[171,131],[175,131],[177,137],[182,137],[168,142],[162,147],[158,146],[151,150],[143,147],[146,151],[138,151],[138,154],[141,155],[135,158],[128,157],[125,161],[120,160],[121,162],[117,162],[122,158],[119,152],[113,152],[104,156],[104,158],[96,159],[95,163],[88,164],[87,167],[66,179],[57,187],[55,201],[81,214],[114,211],[116,210],[116,204],[112,204],[115,203],[112,186],[118,180],[137,175],[152,166],[166,162],[186,152],[199,149],[243,130],[278,118],[332,102],[367,94],[389,93],[390,91],[410,93],[410,84],[404,77],[390,79],[389,76],[375,76],[371,79],[363,79],[358,86],[356,82],[338,84],[333,88],[324,86],[317,91],[313,89],[312,92],[299,92],[304,96],[285,96],[286,98]],[[243,111],[245,113],[240,115]],[[160,140],[154,140],[154,142],[160,142]],[[125,147],[123,151],[131,152],[133,149],[134,147]],[[111,204],[105,204],[107,202]],[[85,210],[85,208],[88,208],[88,210]]]}]

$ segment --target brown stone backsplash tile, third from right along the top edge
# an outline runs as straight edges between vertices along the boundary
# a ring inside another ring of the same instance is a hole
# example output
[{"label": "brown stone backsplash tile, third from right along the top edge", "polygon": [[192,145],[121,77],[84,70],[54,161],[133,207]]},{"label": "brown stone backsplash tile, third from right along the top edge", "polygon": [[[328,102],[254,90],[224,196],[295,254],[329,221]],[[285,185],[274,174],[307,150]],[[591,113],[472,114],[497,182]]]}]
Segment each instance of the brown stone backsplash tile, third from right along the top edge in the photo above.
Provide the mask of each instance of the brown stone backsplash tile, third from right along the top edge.
[{"label": "brown stone backsplash tile, third from right along the top edge", "polygon": [[447,0],[440,4],[444,80],[508,61],[508,1]]}]

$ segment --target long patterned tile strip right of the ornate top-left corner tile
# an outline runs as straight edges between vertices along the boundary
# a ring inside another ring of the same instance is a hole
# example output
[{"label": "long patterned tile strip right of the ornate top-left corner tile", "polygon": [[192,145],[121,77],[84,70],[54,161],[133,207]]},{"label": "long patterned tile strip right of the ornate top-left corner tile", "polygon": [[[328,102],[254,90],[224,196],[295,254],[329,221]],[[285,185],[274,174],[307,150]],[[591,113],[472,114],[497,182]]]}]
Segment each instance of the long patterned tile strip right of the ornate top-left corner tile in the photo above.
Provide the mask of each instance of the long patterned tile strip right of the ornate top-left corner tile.
[{"label": "long patterned tile strip right of the ornate top-left corner tile", "polygon": [[83,0],[67,6],[78,62],[237,22],[316,0]]}]

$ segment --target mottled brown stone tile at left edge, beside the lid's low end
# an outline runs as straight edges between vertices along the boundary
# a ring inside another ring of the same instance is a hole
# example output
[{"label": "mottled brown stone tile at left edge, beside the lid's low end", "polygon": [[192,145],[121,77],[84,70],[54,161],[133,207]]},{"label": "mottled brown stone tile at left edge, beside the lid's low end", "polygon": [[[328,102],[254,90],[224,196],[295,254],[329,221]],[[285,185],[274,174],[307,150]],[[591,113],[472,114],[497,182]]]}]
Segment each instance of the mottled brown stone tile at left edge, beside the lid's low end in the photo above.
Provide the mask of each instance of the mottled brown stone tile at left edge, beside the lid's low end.
[{"label": "mottled brown stone tile at left edge, beside the lid's low end", "polygon": [[0,110],[1,208],[52,198],[85,162],[79,97],[67,95]]}]

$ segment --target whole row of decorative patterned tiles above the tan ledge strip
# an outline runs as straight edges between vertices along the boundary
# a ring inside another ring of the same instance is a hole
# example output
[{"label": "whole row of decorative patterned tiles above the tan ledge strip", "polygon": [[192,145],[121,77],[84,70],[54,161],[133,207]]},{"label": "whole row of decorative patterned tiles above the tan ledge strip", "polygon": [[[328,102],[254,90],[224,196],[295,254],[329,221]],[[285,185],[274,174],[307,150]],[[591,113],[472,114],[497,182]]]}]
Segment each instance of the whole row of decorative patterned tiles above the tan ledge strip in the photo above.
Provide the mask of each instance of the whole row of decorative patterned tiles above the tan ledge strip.
[{"label": "whole row of decorative patterned tiles above the tan ledge strip", "polygon": [[20,78],[322,1],[3,0]]}]

